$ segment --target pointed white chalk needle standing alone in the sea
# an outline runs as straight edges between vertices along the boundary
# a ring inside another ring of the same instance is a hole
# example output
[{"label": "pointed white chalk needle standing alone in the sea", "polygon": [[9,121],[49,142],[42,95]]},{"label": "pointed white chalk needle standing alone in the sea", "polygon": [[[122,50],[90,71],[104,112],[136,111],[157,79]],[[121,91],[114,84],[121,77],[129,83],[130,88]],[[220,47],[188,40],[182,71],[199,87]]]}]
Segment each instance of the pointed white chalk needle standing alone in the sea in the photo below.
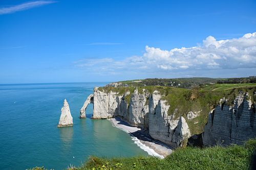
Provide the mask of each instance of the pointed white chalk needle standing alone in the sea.
[{"label": "pointed white chalk needle standing alone in the sea", "polygon": [[69,104],[64,100],[63,107],[61,108],[61,115],[59,118],[58,127],[73,126],[73,117],[71,116]]}]

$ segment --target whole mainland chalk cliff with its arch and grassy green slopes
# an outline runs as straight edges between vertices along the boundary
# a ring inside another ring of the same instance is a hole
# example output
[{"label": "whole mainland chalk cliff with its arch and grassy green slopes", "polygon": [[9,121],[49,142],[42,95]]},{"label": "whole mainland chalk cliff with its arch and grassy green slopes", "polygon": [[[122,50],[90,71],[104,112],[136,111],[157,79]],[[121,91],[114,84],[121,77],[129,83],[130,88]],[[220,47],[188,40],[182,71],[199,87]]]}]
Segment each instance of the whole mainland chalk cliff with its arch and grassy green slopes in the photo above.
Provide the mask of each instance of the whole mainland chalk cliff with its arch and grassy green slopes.
[{"label": "whole mainland chalk cliff with its arch and grassy green slopes", "polygon": [[[185,147],[191,137],[198,136],[202,136],[204,145],[240,144],[256,136],[255,108],[249,94],[228,92],[199,93],[151,86],[95,87],[81,108],[81,115],[88,103],[93,103],[92,118],[121,117],[174,148]],[[224,94],[237,98],[230,104],[231,98],[223,98]]]}]

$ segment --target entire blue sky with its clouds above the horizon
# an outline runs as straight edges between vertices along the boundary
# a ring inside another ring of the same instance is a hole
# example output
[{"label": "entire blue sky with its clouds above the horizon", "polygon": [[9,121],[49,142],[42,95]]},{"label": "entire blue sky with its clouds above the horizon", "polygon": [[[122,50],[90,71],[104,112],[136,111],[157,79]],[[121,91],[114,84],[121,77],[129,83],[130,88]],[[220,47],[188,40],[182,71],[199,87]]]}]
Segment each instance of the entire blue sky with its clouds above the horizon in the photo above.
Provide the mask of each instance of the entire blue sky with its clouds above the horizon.
[{"label": "entire blue sky with its clouds above the horizon", "polygon": [[256,1],[0,1],[0,84],[256,76]]}]

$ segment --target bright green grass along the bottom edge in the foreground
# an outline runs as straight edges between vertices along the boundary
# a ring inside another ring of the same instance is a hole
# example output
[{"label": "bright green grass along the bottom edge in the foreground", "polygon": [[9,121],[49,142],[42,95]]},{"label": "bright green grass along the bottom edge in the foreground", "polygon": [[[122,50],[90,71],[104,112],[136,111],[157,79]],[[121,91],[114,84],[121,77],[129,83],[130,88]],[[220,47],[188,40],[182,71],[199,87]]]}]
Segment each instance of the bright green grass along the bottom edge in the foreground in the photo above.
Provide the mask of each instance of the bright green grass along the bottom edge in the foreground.
[{"label": "bright green grass along the bottom edge in the foreground", "polygon": [[155,157],[90,157],[81,167],[69,169],[252,169],[251,160],[255,149],[256,139],[250,139],[244,145],[225,148],[179,148],[162,160]]}]

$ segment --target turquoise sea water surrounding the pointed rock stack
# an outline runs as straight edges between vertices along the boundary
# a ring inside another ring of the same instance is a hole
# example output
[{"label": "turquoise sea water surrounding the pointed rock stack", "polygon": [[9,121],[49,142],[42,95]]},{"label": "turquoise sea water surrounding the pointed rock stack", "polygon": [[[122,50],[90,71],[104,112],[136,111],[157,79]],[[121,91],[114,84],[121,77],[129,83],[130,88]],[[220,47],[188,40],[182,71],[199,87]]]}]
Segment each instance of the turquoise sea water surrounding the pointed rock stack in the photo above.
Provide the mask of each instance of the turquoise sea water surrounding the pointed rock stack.
[{"label": "turquoise sea water surrounding the pointed rock stack", "polygon": [[[79,110],[94,86],[106,83],[0,85],[0,169],[34,166],[63,169],[79,166],[90,155],[147,155],[129,134],[109,120],[79,119]],[[73,127],[57,128],[67,99]]]}]

